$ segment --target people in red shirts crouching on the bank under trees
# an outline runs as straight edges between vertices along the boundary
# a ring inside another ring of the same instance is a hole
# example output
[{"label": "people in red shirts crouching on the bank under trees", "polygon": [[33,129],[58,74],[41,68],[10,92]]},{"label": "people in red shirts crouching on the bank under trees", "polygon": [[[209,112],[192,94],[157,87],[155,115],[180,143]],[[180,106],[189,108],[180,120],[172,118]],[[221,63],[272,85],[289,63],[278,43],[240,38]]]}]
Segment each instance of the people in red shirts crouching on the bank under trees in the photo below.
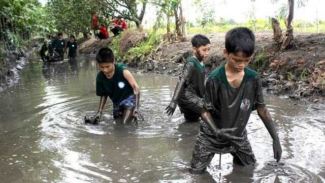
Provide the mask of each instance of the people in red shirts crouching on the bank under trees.
[{"label": "people in red shirts crouching on the bank under trees", "polygon": [[[91,29],[93,29],[94,32],[96,32],[96,30],[99,30],[99,33],[95,33],[95,36],[98,37],[101,41],[103,39],[108,38],[108,32],[106,26],[105,24],[100,23],[99,16],[97,14],[93,14],[91,19],[92,19]],[[111,20],[111,23],[112,23],[112,27],[110,28],[110,31],[114,34],[114,36],[117,36],[121,31],[127,29],[127,24],[124,20],[121,19],[121,17],[115,17],[113,20]]]}]

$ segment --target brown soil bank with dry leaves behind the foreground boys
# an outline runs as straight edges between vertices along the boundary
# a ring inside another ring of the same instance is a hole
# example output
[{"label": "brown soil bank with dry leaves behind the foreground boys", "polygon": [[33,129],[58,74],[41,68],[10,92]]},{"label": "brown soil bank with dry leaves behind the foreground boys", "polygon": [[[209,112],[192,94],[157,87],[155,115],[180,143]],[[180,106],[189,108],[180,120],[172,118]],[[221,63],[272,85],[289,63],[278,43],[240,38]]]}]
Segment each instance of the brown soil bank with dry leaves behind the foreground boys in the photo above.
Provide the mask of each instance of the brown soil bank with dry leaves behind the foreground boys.
[{"label": "brown soil bank with dry leaves behind the foreground boys", "polygon": [[[155,51],[145,57],[119,60],[135,72],[153,72],[178,76],[185,60],[192,56],[189,35],[184,42],[162,42]],[[206,35],[211,41],[210,58],[206,62],[207,74],[226,63],[223,56],[225,33]],[[259,72],[267,93],[290,98],[295,103],[315,105],[325,110],[325,34],[294,35],[294,42],[280,52],[273,40],[272,32],[255,33],[256,46],[252,62],[248,67]],[[113,38],[99,41],[94,38],[79,46],[80,53],[95,53],[108,46]],[[256,59],[264,57],[262,62]],[[255,60],[255,61],[254,61]]]}]

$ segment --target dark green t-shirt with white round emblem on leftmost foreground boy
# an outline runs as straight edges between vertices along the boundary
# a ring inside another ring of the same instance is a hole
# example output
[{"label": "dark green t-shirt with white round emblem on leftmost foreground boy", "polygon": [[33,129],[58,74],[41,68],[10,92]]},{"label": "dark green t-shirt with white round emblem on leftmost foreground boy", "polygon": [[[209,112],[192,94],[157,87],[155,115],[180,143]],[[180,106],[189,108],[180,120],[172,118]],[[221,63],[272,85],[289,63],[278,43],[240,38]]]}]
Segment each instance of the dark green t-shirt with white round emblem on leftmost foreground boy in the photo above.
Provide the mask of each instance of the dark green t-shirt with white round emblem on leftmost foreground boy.
[{"label": "dark green t-shirt with white round emblem on leftmost foreground boy", "polygon": [[123,76],[123,70],[128,68],[121,63],[114,64],[114,75],[108,79],[106,75],[100,71],[96,77],[96,95],[109,96],[115,105],[125,100],[130,95],[134,95],[133,89]]}]

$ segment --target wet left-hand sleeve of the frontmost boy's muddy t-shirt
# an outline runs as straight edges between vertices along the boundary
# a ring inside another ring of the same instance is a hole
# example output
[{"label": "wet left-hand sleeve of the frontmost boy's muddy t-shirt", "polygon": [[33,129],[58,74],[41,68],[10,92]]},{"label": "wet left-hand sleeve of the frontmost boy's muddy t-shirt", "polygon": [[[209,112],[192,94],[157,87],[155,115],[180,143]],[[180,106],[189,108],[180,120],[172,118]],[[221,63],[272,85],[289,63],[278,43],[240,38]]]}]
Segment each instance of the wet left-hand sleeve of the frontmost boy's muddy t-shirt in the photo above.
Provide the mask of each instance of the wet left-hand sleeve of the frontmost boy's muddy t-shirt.
[{"label": "wet left-hand sleeve of the frontmost boy's muddy t-shirt", "polygon": [[218,110],[215,108],[216,106],[216,98],[218,96],[217,86],[213,85],[211,79],[208,79],[205,86],[205,93],[203,97],[203,106],[210,112],[215,113]]}]

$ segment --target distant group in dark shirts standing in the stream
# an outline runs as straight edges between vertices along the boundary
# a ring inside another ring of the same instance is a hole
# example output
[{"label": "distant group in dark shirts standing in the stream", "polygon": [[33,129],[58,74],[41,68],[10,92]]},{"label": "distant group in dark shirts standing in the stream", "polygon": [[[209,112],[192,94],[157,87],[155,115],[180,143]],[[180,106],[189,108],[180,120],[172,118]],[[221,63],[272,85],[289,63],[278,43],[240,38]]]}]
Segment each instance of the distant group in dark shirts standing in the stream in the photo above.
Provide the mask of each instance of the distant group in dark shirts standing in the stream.
[{"label": "distant group in dark shirts standing in the stream", "polygon": [[68,58],[75,58],[77,54],[77,43],[75,36],[71,35],[70,40],[67,42],[63,39],[63,34],[58,33],[57,38],[54,39],[52,35],[47,37],[42,45],[40,54],[43,62],[63,60],[64,52],[68,52]]}]

